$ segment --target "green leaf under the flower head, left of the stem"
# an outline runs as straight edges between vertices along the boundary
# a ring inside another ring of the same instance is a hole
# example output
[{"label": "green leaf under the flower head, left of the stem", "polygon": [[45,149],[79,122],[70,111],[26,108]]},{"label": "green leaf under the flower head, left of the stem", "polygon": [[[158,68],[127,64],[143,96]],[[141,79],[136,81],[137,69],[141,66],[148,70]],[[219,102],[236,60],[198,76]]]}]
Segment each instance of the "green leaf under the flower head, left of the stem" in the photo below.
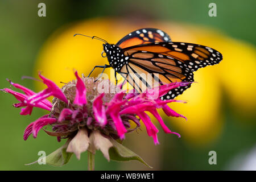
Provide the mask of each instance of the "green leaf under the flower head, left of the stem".
[{"label": "green leaf under the flower head, left of the stem", "polygon": [[[63,166],[64,164],[67,164],[73,154],[73,153],[66,152],[70,141],[71,140],[67,140],[67,142],[64,144],[64,146],[58,148],[56,151],[47,155],[46,156],[46,164],[49,164],[51,166]],[[38,160],[36,160],[35,162],[32,162],[30,164],[35,164],[37,162],[38,162]],[[26,164],[26,165],[30,165],[30,164]]]}]

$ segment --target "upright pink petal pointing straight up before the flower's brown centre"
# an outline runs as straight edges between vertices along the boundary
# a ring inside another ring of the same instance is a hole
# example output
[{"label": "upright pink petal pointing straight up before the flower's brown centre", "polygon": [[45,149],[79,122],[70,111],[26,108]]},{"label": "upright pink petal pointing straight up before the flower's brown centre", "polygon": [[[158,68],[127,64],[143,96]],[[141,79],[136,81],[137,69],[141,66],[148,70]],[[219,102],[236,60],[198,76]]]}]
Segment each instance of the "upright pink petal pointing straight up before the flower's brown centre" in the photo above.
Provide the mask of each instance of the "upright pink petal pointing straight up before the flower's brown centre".
[{"label": "upright pink petal pointing straight up before the flower's brown centre", "polygon": [[76,83],[76,97],[73,103],[83,106],[86,104],[86,88],[85,88],[84,82],[79,77],[77,71],[75,72],[75,75],[77,78],[77,83]]}]

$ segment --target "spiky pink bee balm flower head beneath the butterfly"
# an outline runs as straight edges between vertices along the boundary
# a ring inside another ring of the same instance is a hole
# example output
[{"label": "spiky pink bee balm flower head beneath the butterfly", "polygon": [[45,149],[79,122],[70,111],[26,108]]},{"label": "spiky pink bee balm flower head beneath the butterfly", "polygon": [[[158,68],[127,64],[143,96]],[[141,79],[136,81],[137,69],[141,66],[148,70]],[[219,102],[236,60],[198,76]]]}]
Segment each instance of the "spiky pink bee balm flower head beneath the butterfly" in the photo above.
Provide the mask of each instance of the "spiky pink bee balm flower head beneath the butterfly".
[{"label": "spiky pink bee balm flower head beneath the butterfly", "polygon": [[[167,134],[179,134],[172,132],[164,124],[158,109],[172,117],[183,117],[177,114],[167,104],[170,102],[183,102],[176,100],[160,100],[164,94],[178,86],[186,86],[189,82],[176,82],[159,86],[158,97],[152,98],[151,92],[141,94],[124,93],[120,86],[113,85],[109,80],[98,80],[90,77],[79,77],[75,72],[76,80],[65,84],[61,89],[51,80],[39,77],[47,85],[47,89],[35,93],[22,85],[10,84],[24,93],[14,90],[2,89],[6,93],[13,94],[19,101],[15,107],[23,107],[20,114],[31,114],[33,107],[48,110],[49,113],[30,123],[24,131],[24,140],[32,134],[37,137],[38,132],[44,126],[51,126],[52,131],[44,130],[48,135],[55,136],[60,141],[68,138],[67,152],[75,153],[80,159],[81,152],[86,150],[95,153],[101,150],[105,158],[110,160],[109,148],[113,140],[124,139],[125,134],[141,126],[140,120],[146,126],[147,134],[153,138],[155,144],[159,144],[157,134],[159,130],[152,123],[146,111],[150,112],[160,123]],[[104,93],[99,90],[104,90]],[[53,96],[52,103],[46,98]],[[183,117],[185,118],[185,117]],[[131,122],[135,128],[131,128]]]}]

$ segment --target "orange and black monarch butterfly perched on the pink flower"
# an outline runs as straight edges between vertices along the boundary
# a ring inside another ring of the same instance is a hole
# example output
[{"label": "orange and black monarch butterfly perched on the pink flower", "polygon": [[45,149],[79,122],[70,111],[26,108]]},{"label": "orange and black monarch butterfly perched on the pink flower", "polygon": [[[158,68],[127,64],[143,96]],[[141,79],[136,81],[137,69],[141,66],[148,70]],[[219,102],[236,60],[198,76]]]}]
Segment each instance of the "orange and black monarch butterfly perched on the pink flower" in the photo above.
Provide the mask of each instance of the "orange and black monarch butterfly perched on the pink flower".
[{"label": "orange and black monarch butterfly perched on the pink flower", "polygon": [[[108,57],[109,61],[109,65],[95,66],[93,70],[104,68],[103,73],[105,68],[112,67],[115,78],[117,73],[120,73],[138,92],[151,87],[146,78],[141,76],[143,73],[150,73],[153,79],[157,77],[158,85],[180,81],[193,82],[193,72],[207,65],[218,64],[222,60],[221,53],[213,48],[199,44],[172,42],[166,32],[156,28],[135,30],[119,40],[117,44],[109,44],[96,36],[90,38],[104,42],[102,57]],[[104,52],[106,56],[103,56]],[[132,74],[141,80],[141,84],[135,81]],[[161,99],[173,99],[190,86],[191,84],[170,90]]]}]

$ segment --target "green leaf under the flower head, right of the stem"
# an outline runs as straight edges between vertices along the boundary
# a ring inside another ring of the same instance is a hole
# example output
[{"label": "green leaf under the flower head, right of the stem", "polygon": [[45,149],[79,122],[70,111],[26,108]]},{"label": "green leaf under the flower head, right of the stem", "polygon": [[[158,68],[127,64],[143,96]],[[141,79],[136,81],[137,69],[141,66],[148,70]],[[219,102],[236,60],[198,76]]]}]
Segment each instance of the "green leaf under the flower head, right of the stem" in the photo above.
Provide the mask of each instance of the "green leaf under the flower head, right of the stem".
[{"label": "green leaf under the flower head, right of the stem", "polygon": [[113,144],[113,147],[109,149],[110,159],[121,162],[129,160],[138,160],[139,162],[145,164],[147,167],[152,168],[146,162],[144,162],[144,160],[139,155],[135,154],[133,151],[129,150],[128,148],[118,143],[114,139],[110,139],[110,142]]}]

